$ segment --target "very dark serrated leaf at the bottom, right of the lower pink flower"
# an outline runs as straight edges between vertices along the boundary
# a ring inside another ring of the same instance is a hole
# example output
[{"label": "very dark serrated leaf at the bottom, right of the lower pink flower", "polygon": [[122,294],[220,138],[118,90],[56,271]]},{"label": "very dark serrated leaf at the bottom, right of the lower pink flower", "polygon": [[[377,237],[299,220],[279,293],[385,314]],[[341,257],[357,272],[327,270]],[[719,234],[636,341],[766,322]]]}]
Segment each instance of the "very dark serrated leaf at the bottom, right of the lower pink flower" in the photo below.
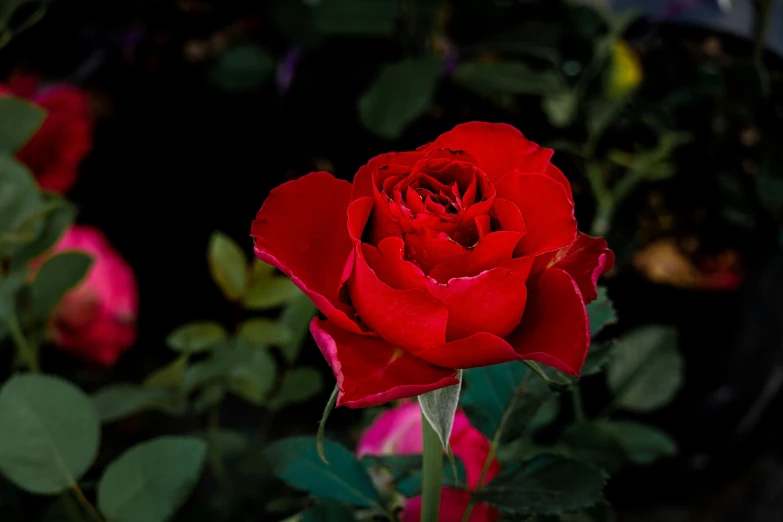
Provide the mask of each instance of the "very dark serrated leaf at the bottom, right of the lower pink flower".
[{"label": "very dark serrated leaf at the bottom, right of the lower pink flower", "polygon": [[543,455],[522,467],[512,466],[474,498],[513,515],[558,515],[601,502],[605,481],[603,472],[592,466]]}]

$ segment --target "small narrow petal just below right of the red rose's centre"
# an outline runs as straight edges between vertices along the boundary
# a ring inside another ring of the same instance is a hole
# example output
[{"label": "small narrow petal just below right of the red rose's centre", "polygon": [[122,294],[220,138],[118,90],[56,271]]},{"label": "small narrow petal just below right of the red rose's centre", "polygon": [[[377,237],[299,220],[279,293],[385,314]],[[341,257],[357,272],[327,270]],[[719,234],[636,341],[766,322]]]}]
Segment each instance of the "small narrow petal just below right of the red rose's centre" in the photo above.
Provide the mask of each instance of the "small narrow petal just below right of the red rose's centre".
[{"label": "small narrow petal just below right of the red rose's centre", "polygon": [[511,259],[521,237],[520,232],[513,231],[487,234],[465,255],[454,256],[435,265],[429,276],[443,284],[455,277],[477,276]]}]

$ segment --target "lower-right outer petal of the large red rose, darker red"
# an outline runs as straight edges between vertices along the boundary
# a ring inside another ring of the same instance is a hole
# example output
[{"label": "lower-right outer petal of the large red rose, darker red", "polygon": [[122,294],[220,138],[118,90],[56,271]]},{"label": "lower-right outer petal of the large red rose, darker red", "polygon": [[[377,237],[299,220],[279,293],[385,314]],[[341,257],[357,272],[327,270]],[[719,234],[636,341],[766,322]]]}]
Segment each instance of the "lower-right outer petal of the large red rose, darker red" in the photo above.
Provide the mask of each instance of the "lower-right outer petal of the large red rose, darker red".
[{"label": "lower-right outer petal of the large red rose, darker red", "polygon": [[522,322],[508,342],[522,359],[579,375],[590,346],[590,325],[576,282],[559,268],[548,268],[528,287]]}]

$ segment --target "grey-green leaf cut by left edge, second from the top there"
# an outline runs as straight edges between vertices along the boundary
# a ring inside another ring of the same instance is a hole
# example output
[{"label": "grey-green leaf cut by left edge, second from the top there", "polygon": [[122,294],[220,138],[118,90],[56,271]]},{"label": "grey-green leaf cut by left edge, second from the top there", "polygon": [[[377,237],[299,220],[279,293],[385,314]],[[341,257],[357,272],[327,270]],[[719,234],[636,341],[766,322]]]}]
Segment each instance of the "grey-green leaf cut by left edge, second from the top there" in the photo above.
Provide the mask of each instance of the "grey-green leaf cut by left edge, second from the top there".
[{"label": "grey-green leaf cut by left edge, second from the top there", "polygon": [[0,155],[0,187],[3,187],[0,191],[0,247],[32,241],[39,231],[28,230],[27,234],[20,234],[18,229],[43,205],[35,178],[15,159]]}]

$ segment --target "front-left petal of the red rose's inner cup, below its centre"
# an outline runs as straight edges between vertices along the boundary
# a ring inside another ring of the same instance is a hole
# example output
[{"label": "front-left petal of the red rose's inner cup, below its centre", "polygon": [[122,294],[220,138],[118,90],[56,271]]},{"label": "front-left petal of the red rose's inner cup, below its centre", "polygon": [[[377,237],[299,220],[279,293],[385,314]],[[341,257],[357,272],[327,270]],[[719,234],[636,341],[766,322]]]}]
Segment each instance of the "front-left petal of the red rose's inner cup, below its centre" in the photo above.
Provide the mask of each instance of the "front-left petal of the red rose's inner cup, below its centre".
[{"label": "front-left petal of the red rose's inner cup, below its centre", "polygon": [[446,342],[446,307],[422,290],[397,290],[384,283],[365,259],[374,250],[366,244],[357,247],[349,281],[351,299],[362,321],[400,348],[417,350]]}]

